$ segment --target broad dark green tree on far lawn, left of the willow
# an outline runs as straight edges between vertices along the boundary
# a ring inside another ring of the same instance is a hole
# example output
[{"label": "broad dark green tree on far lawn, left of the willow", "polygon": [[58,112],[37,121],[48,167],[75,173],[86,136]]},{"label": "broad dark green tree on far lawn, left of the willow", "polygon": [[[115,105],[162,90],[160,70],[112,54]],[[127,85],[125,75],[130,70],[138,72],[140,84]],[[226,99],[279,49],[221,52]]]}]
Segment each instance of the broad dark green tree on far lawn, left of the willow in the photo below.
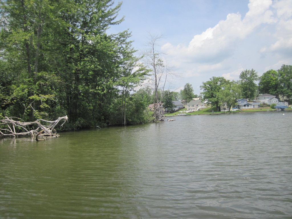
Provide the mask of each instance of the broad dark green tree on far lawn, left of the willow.
[{"label": "broad dark green tree on far lawn, left of the willow", "polygon": [[210,81],[203,82],[200,86],[201,95],[203,95],[203,100],[208,100],[211,102],[212,106],[216,106],[218,112],[220,111],[220,104],[222,99],[220,98],[219,91],[222,90],[224,84],[228,84],[228,80],[224,77],[212,77]]}]

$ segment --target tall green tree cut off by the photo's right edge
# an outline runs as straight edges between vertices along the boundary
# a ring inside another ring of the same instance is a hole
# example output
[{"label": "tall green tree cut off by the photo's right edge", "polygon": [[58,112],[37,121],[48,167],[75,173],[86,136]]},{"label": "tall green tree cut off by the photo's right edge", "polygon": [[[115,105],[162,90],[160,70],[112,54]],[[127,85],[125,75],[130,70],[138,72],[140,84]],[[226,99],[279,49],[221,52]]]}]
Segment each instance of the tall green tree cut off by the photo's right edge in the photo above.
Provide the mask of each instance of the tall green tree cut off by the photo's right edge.
[{"label": "tall green tree cut off by the photo's right edge", "polygon": [[282,65],[278,70],[279,87],[278,92],[283,98],[292,97],[292,65]]}]

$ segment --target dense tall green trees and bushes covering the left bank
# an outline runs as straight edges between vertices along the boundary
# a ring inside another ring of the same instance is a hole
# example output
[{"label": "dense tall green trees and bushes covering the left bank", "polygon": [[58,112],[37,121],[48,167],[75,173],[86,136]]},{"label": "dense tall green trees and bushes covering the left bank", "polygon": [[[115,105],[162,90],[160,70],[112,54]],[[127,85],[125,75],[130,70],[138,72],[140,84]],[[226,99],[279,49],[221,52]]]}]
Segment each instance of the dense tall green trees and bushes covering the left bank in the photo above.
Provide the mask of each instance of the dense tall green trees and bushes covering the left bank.
[{"label": "dense tall green trees and bushes covering the left bank", "polygon": [[67,115],[66,128],[77,129],[124,124],[128,107],[126,123],[147,121],[147,100],[129,93],[147,69],[137,64],[130,33],[106,32],[122,22],[116,20],[120,6],[1,1],[0,115],[31,121]]}]

